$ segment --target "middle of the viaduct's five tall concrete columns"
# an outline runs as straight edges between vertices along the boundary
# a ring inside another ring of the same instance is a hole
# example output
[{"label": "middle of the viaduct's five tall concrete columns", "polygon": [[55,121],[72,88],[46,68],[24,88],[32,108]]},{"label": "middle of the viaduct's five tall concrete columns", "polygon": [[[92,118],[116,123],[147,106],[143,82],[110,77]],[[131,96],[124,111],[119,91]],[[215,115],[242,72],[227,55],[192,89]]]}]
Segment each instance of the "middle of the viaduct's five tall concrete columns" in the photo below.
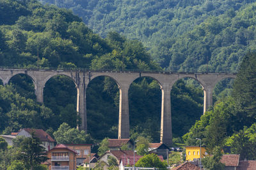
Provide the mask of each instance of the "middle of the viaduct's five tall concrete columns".
[{"label": "middle of the viaduct's five tall concrete columns", "polygon": [[120,90],[120,101],[119,101],[118,139],[128,139],[130,137],[129,99],[128,99],[129,87],[120,85],[119,90]]}]

